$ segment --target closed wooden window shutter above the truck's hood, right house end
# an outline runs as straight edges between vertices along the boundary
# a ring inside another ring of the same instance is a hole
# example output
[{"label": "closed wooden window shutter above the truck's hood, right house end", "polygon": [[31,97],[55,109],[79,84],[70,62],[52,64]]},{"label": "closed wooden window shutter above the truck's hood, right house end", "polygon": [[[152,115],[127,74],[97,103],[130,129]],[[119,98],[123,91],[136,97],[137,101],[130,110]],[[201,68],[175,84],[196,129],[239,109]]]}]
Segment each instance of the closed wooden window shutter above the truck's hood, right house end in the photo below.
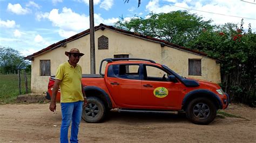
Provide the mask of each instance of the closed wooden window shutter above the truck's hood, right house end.
[{"label": "closed wooden window shutter above the truck's hood, right house end", "polygon": [[201,76],[201,60],[188,59],[188,75]]}]

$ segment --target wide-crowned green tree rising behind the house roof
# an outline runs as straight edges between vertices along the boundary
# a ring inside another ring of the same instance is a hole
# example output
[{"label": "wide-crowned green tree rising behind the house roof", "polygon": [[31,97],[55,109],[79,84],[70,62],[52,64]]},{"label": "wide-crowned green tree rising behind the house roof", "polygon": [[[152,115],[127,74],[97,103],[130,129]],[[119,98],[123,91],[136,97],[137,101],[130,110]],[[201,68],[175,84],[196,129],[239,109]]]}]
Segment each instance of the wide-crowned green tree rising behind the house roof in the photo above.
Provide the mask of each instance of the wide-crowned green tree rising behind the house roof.
[{"label": "wide-crowned green tree rising behind the house roof", "polygon": [[172,11],[169,13],[150,13],[147,18],[136,17],[129,22],[125,20],[114,24],[117,28],[149,35],[166,40],[173,44],[188,46],[191,40],[200,33],[211,30],[211,20],[204,21],[202,17],[187,11]]}]

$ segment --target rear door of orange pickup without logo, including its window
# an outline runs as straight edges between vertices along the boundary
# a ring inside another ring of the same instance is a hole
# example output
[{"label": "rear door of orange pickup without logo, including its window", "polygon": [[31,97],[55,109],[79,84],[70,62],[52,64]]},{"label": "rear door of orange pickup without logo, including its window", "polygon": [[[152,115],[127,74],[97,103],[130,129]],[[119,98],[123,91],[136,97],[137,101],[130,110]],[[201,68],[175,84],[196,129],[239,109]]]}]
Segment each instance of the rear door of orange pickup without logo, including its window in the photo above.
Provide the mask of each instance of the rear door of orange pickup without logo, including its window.
[{"label": "rear door of orange pickup without logo, including its window", "polygon": [[138,105],[142,93],[139,67],[139,64],[118,64],[107,69],[107,89],[117,106],[134,108]]}]

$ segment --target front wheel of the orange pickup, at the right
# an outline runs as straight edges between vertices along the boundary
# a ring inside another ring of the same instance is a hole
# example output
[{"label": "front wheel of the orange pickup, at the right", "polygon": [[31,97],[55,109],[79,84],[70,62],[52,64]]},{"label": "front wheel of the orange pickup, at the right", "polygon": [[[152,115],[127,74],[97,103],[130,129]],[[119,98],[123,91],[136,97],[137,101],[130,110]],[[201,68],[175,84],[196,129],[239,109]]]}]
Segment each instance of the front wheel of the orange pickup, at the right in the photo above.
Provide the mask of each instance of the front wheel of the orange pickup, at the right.
[{"label": "front wheel of the orange pickup, at the right", "polygon": [[216,117],[216,106],[210,99],[196,98],[187,106],[186,116],[194,124],[208,125]]}]

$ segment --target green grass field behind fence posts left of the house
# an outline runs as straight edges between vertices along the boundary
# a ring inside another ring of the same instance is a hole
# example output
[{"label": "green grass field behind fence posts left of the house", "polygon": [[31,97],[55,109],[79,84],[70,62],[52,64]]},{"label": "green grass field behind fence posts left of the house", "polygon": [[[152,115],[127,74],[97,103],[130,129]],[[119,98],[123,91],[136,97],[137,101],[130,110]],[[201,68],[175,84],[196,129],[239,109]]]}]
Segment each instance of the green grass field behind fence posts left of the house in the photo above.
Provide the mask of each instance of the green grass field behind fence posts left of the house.
[{"label": "green grass field behind fence posts left of the house", "polygon": [[[31,75],[28,78],[28,89],[30,91]],[[21,92],[25,94],[25,77],[21,74]],[[0,103],[14,103],[19,95],[19,78],[17,74],[2,75],[0,74]]]}]

